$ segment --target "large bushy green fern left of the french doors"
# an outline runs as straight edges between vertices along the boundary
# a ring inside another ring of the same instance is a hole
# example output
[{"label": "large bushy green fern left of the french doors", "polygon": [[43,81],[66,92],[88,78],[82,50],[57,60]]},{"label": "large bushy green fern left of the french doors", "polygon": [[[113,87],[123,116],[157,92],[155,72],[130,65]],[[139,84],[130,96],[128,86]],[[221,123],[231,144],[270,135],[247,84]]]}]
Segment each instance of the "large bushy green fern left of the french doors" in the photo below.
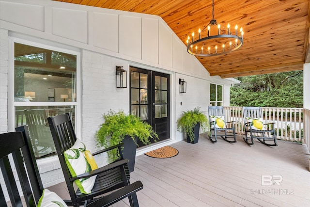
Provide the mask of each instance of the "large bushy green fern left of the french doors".
[{"label": "large bushy green fern left of the french doors", "polygon": [[[133,140],[137,137],[143,144],[150,144],[152,140],[156,142],[158,139],[152,126],[133,114],[110,110],[103,115],[103,118],[105,122],[100,125],[100,129],[95,134],[98,147],[107,148],[122,143],[126,135]],[[118,150],[108,151],[108,157],[109,162],[119,159]]]}]

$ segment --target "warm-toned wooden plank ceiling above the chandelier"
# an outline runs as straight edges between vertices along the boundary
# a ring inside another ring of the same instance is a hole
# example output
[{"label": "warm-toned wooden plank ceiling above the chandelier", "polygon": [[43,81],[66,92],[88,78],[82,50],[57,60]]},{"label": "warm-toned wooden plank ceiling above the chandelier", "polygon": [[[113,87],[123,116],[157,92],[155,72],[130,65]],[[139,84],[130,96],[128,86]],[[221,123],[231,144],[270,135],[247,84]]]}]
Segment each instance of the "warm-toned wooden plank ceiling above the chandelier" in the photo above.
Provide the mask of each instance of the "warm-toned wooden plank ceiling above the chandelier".
[{"label": "warm-toned wooden plank ceiling above the chandelier", "polygon": [[[57,1],[161,16],[185,44],[212,20],[212,0]],[[309,0],[215,0],[214,18],[242,27],[244,45],[198,60],[211,76],[222,78],[301,70],[310,63],[309,13]]]}]

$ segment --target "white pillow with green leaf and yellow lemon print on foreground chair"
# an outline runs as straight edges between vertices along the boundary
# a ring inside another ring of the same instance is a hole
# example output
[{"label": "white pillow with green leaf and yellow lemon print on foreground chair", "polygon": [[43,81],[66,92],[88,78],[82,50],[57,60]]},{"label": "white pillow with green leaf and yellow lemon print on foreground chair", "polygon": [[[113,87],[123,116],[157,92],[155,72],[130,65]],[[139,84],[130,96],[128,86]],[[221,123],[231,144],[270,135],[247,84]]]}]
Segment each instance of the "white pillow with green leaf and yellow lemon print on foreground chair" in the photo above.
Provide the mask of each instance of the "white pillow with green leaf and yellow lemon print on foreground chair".
[{"label": "white pillow with green leaf and yellow lemon print on foreground chair", "polygon": [[[90,172],[97,167],[92,154],[86,150],[85,144],[77,139],[74,145],[64,151],[64,159],[72,176]],[[91,193],[97,175],[75,180],[78,189],[85,194]]]}]

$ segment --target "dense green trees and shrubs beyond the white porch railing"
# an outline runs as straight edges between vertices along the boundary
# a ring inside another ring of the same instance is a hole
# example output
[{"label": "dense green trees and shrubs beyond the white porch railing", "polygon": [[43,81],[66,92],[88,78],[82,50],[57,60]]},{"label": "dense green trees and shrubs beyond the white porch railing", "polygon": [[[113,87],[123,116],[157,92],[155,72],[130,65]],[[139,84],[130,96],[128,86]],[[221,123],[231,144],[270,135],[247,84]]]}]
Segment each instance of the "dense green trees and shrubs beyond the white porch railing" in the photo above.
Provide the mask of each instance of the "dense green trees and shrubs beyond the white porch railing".
[{"label": "dense green trees and shrubs beyond the white porch railing", "polygon": [[303,71],[237,78],[231,87],[231,106],[303,107]]}]

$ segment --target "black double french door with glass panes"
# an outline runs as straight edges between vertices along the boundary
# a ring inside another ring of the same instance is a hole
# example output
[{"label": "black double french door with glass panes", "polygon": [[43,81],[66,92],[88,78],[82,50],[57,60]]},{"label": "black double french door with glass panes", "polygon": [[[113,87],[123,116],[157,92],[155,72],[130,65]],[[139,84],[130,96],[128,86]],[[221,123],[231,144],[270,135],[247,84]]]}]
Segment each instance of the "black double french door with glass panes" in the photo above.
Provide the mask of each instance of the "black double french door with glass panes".
[{"label": "black double french door with glass panes", "polygon": [[130,67],[130,111],[153,127],[159,141],[170,138],[169,85],[168,74]]}]

